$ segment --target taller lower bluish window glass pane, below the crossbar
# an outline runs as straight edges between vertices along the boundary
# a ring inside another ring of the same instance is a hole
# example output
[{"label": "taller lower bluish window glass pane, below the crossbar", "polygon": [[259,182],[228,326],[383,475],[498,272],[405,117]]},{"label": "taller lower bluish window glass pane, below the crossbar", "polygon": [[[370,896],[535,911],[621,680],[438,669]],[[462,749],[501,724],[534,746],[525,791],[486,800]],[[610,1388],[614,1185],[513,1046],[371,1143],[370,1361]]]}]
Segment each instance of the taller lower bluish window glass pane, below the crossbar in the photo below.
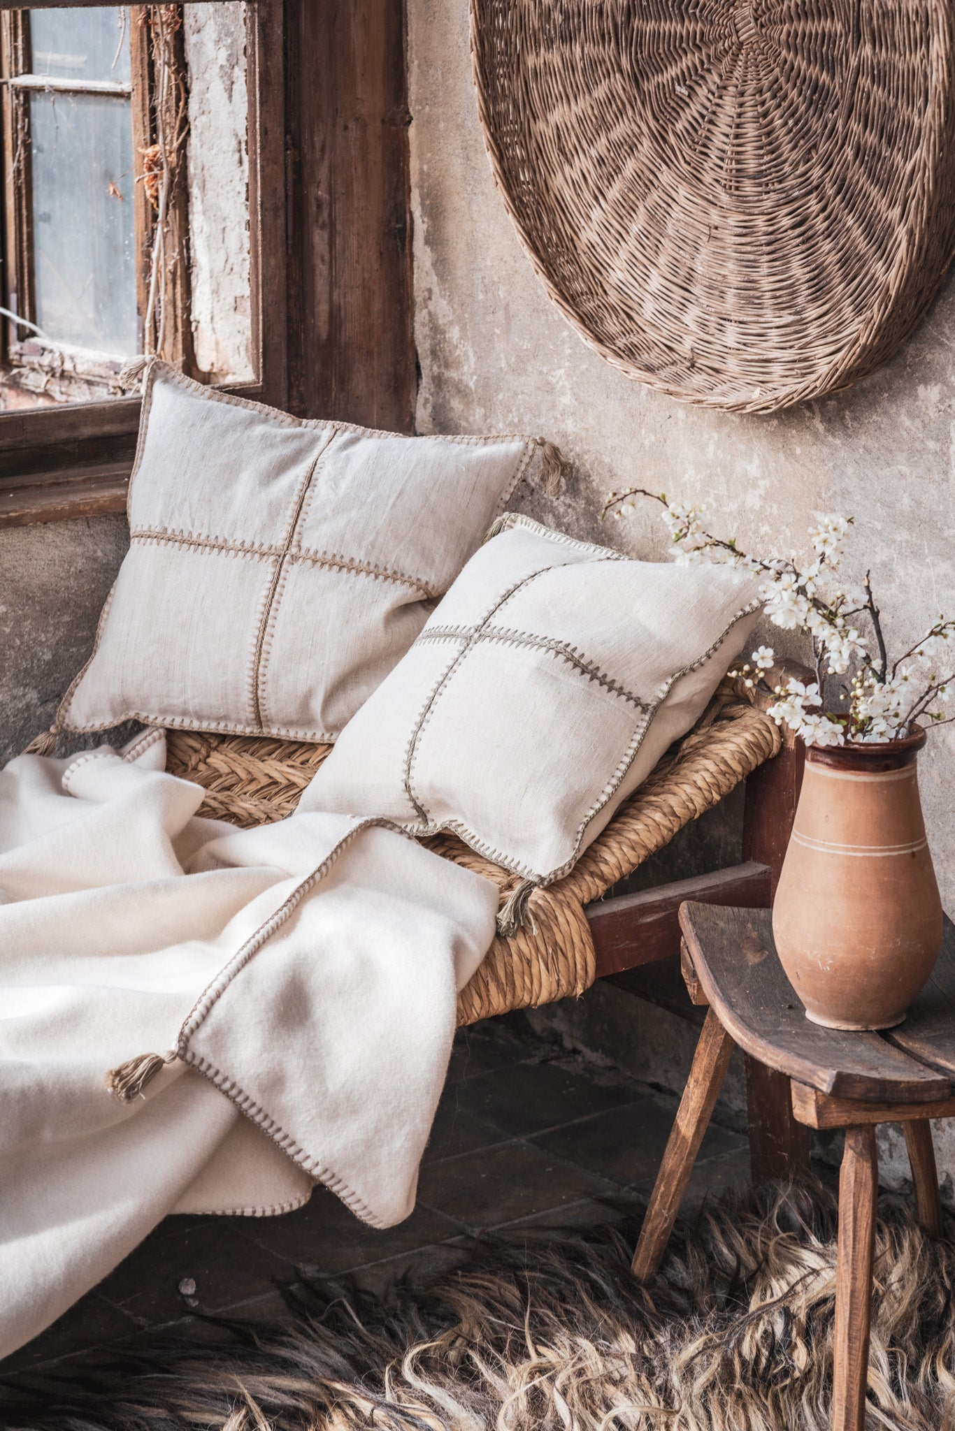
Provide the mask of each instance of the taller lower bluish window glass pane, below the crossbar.
[{"label": "taller lower bluish window glass pane, below the crossbar", "polygon": [[34,93],[30,133],[36,321],[47,338],[130,356],[136,270],[129,102]]}]

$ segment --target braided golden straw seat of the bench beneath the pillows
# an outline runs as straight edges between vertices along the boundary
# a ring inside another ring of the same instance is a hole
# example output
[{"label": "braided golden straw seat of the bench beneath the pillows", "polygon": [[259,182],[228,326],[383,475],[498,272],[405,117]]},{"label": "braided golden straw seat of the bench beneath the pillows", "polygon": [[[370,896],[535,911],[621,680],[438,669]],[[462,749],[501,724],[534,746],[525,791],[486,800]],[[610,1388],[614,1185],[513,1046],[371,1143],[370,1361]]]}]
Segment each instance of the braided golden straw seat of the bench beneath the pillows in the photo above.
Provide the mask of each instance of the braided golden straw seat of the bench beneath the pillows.
[{"label": "braided golden straw seat of the bench beneath the pillows", "polygon": [[[523,927],[510,939],[495,937],[461,992],[458,1023],[535,1007],[590,987],[594,944],[584,906],[636,870],[684,824],[719,804],[779,750],[779,731],[767,716],[726,694],[722,700],[724,704],[717,701],[712,707],[712,723],[664,756],[570,874],[531,893]],[[169,771],[205,787],[199,814],[246,827],[291,814],[331,750],[299,741],[179,730],[166,731],[166,741]],[[514,874],[475,854],[455,836],[438,834],[425,843],[455,864],[493,880],[501,903],[518,884]]]}]

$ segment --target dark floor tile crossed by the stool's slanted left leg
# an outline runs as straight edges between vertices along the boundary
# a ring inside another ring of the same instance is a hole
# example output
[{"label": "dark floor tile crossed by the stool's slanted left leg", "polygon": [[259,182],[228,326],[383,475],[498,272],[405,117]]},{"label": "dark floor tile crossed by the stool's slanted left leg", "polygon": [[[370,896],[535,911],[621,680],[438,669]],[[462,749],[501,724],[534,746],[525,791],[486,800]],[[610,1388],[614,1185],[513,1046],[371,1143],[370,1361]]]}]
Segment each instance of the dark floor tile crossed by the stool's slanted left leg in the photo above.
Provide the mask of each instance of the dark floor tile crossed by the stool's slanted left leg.
[{"label": "dark floor tile crossed by the stool's slanted left leg", "polygon": [[[647,1095],[637,1103],[568,1123],[528,1139],[537,1148],[609,1178],[621,1188],[656,1178],[677,1100]],[[710,1123],[700,1158],[746,1149],[746,1138]]]}]

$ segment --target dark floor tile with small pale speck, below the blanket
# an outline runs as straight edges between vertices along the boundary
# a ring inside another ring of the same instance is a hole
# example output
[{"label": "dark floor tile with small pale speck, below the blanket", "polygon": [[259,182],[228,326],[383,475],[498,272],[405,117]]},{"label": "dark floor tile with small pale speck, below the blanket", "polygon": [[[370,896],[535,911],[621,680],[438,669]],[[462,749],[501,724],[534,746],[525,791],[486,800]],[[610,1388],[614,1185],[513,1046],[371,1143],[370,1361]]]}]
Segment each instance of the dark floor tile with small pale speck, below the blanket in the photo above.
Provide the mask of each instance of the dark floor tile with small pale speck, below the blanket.
[{"label": "dark floor tile with small pale speck, below the blanket", "polygon": [[[166,1218],[97,1291],[140,1325],[219,1311],[292,1281],[294,1271],[246,1232],[255,1218]],[[195,1291],[180,1291],[182,1284]]]}]

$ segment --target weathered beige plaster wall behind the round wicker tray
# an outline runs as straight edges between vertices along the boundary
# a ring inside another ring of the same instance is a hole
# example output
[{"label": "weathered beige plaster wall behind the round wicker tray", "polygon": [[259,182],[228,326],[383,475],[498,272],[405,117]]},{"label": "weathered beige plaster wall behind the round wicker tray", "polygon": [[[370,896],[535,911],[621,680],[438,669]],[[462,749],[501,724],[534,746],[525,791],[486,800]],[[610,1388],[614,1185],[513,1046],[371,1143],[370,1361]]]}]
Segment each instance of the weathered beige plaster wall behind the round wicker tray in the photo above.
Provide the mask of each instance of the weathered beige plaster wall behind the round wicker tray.
[{"label": "weathered beige plaster wall behind the round wicker tray", "polygon": [[[576,535],[647,557],[663,554],[663,524],[647,504],[629,521],[600,527],[597,512],[610,488],[641,485],[704,499],[713,522],[755,550],[802,547],[816,511],[855,515],[858,575],[871,564],[893,641],[908,644],[941,608],[955,612],[951,285],[908,346],[849,392],[776,416],[693,408],[610,368],[534,276],[484,150],[467,0],[409,0],[409,107],[420,431],[546,434],[574,459],[576,479],[558,501],[524,494],[524,508]],[[793,651],[780,637],[773,630],[770,644]],[[955,726],[936,731],[922,756],[925,816],[951,914],[954,787]],[[719,844],[719,836],[709,844]],[[706,846],[699,840],[697,854]],[[609,1027],[604,1013],[584,999],[577,1010],[560,1012],[560,1029],[593,1047],[596,1025]],[[647,1012],[634,1030],[636,1043],[643,1040],[634,1070],[643,1076],[654,1058],[657,1076],[672,1062],[673,1030],[659,1015]],[[634,1009],[630,1016],[640,1017]],[[609,1052],[607,1040],[601,1050]],[[951,1192],[955,1133],[941,1139]],[[898,1148],[886,1143],[885,1152]],[[889,1173],[899,1166],[898,1156],[886,1162]]]}]

